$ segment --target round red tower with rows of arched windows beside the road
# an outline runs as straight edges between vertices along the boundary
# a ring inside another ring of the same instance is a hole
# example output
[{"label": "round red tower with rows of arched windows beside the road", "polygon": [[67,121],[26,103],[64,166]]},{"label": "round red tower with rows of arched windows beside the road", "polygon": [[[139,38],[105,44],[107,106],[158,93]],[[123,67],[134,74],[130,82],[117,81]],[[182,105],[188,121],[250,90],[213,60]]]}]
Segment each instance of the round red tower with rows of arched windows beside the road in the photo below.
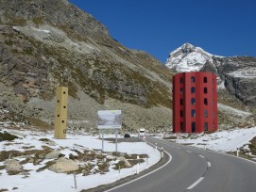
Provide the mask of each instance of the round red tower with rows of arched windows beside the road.
[{"label": "round red tower with rows of arched windows beside the road", "polygon": [[181,72],[173,76],[173,132],[217,130],[216,75]]}]

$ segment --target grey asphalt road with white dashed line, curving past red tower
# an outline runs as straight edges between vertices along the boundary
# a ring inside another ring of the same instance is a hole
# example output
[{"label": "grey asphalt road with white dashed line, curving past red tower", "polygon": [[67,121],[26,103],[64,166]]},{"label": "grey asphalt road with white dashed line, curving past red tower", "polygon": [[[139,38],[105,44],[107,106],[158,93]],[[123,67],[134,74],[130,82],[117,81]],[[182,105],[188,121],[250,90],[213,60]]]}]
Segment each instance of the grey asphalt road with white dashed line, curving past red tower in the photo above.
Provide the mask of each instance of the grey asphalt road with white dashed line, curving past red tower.
[{"label": "grey asphalt road with white dashed line, curving past red tower", "polygon": [[158,143],[172,155],[165,167],[130,184],[115,187],[111,192],[255,192],[256,164],[223,153],[209,152],[157,138]]}]

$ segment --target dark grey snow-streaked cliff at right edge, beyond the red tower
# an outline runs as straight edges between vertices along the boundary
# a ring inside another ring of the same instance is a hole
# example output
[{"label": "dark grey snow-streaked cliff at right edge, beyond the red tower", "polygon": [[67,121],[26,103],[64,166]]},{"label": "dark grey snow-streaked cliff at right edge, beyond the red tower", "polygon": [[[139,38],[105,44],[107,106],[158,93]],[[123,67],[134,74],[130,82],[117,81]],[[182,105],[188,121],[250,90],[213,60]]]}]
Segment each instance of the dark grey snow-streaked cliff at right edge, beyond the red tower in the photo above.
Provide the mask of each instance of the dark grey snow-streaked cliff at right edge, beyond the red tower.
[{"label": "dark grey snow-streaked cliff at right edge, beyond the red tower", "polygon": [[232,95],[244,104],[256,105],[256,57],[215,57],[213,64]]}]

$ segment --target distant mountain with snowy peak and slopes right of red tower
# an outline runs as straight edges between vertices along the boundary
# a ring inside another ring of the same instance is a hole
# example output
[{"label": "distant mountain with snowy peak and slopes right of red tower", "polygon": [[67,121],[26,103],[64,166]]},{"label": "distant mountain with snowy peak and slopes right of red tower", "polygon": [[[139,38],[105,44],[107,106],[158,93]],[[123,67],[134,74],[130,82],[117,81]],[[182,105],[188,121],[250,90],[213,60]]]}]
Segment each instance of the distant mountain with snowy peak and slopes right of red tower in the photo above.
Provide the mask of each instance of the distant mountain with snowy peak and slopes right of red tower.
[{"label": "distant mountain with snowy peak and slopes right of red tower", "polygon": [[[216,73],[219,84],[219,125],[229,127],[230,124],[232,126],[254,124],[256,57],[213,56],[200,47],[185,43],[169,54],[166,66],[176,72]],[[244,112],[250,115],[247,116]],[[244,120],[241,119],[241,114]]]}]

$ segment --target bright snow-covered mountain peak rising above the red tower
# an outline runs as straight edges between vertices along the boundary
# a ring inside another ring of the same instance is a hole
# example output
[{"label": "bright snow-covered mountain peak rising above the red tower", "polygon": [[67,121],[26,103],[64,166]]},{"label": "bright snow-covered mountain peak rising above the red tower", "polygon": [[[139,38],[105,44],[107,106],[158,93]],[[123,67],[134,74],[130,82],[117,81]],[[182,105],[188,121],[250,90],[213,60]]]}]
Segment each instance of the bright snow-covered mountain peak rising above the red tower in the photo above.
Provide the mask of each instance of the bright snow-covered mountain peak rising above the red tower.
[{"label": "bright snow-covered mountain peak rising above the red tower", "polygon": [[178,72],[197,72],[203,65],[212,62],[213,55],[190,43],[184,43],[169,54],[166,66]]}]

